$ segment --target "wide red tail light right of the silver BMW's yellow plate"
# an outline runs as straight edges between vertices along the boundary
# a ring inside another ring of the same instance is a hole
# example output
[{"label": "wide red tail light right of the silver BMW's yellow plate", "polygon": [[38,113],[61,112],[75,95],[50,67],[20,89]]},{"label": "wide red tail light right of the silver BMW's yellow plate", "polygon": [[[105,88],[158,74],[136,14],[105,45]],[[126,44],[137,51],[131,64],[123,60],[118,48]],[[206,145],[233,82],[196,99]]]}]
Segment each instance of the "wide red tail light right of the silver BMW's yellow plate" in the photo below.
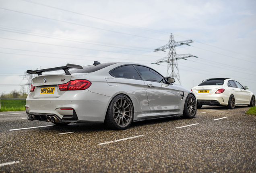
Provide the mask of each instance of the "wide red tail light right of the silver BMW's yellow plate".
[{"label": "wide red tail light right of the silver BMW's yellow plate", "polygon": [[60,91],[68,91],[68,90],[85,90],[91,86],[91,82],[89,80],[70,80],[65,84],[58,84]]}]

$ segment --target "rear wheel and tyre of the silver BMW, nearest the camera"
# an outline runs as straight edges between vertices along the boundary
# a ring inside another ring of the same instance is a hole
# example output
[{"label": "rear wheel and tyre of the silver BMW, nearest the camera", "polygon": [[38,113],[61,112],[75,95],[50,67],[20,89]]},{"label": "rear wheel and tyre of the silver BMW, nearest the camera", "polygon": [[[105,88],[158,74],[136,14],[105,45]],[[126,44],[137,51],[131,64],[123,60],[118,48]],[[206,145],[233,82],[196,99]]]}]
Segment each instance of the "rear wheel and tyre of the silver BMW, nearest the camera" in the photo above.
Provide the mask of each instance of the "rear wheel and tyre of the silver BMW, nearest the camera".
[{"label": "rear wheel and tyre of the silver BMW, nearest the camera", "polygon": [[127,129],[133,120],[134,109],[132,101],[126,95],[117,95],[110,102],[105,117],[105,123],[109,129]]}]

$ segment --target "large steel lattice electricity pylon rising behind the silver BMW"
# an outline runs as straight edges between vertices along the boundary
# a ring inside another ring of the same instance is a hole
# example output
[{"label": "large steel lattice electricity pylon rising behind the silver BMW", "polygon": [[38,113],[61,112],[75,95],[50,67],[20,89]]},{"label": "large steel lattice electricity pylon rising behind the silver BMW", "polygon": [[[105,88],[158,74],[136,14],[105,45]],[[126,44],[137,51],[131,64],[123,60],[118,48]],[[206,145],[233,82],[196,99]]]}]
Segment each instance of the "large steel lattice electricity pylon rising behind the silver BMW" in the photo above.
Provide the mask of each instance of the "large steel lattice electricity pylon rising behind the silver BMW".
[{"label": "large steel lattice electricity pylon rising behind the silver BMW", "polygon": [[[154,50],[154,52],[157,52],[159,50],[162,50],[162,51],[166,52],[165,49],[169,49],[168,55],[164,58],[161,58],[161,59],[157,60],[157,62],[154,62],[154,63],[151,63],[151,64],[159,65],[159,63],[167,62],[168,63],[167,64],[167,77],[175,78],[176,80],[178,80],[180,82],[180,73],[179,73],[179,68],[178,68],[178,60],[180,60],[180,59],[187,60],[186,58],[192,57],[194,55],[176,54],[175,47],[182,46],[184,44],[190,46],[188,43],[192,43],[192,42],[193,42],[192,40],[175,42],[173,34],[171,34],[170,40],[167,44],[165,44],[164,46],[161,46],[159,48],[156,48]],[[198,58],[197,56],[194,56],[194,57]],[[169,68],[171,68],[171,74],[169,74]],[[181,84],[181,82],[180,82],[180,84]]]}]

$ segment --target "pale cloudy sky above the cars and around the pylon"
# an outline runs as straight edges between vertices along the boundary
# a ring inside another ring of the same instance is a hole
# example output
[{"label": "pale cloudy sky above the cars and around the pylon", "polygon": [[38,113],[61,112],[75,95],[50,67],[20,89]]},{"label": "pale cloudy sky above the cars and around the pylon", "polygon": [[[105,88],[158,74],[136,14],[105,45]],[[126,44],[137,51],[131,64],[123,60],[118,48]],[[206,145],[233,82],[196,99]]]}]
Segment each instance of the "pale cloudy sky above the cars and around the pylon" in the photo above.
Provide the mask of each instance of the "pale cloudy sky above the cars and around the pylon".
[{"label": "pale cloudy sky above the cars and around the pylon", "polygon": [[175,41],[181,84],[233,78],[256,93],[256,0],[0,0],[0,93],[20,90],[28,69],[137,62],[166,76]]}]

